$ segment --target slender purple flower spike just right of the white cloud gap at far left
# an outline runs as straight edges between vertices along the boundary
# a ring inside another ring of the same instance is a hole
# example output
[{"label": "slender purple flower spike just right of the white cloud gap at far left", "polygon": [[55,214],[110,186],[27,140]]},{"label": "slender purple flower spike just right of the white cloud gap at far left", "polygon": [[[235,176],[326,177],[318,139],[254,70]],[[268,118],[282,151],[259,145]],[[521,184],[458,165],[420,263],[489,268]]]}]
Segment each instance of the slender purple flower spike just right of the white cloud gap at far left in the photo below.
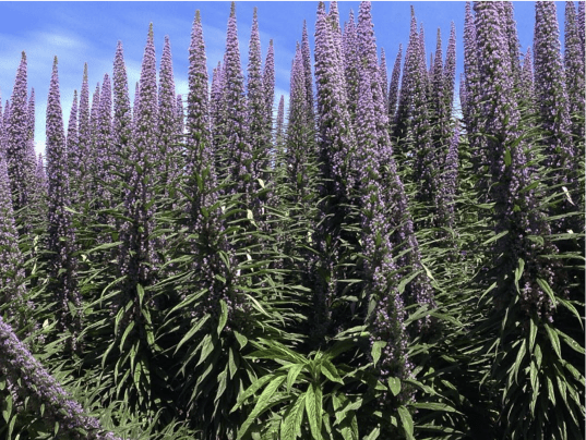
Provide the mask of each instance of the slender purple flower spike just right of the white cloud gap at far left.
[{"label": "slender purple flower spike just right of the white cloud gap at far left", "polygon": [[[76,351],[77,334],[82,329],[82,301],[77,289],[76,259],[73,257],[75,233],[72,227],[69,199],[69,174],[67,167],[65,135],[59,94],[57,57],[55,57],[49,97],[47,100],[47,175],[49,217],[47,247],[50,253],[48,269],[50,281],[47,286],[57,298],[59,331],[72,332],[69,349]],[[70,311],[70,304],[75,313]]]}]

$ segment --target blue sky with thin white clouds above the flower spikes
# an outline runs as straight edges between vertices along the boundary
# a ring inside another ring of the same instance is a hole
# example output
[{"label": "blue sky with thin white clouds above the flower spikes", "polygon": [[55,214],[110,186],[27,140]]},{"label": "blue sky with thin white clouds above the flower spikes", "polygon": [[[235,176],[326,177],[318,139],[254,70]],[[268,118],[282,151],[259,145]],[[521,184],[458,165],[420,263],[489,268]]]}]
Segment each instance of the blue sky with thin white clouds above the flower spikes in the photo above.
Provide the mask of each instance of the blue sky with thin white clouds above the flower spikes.
[{"label": "blue sky with thin white clouds above the flower spikes", "polygon": [[[564,2],[557,1],[563,47]],[[576,1],[577,3],[577,1]],[[326,2],[328,4],[328,2]],[[456,83],[463,72],[463,0],[443,1],[372,1],[374,33],[379,49],[384,47],[391,71],[398,50],[404,50],[409,38],[410,5],[415,7],[418,23],[423,23],[426,46],[435,51],[438,27],[442,32],[443,54],[453,21],[456,25]],[[514,1],[515,20],[522,51],[533,44],[535,2]],[[165,35],[171,42],[174,73],[178,94],[188,93],[188,48],[195,10],[202,14],[207,65],[212,69],[224,57],[226,27],[230,12],[229,1],[1,1],[0,13],[0,93],[2,105],[12,95],[14,76],[24,50],[28,63],[28,89],[35,88],[37,152],[45,149],[45,113],[51,75],[52,59],[59,59],[61,105],[67,124],[73,90],[80,90],[84,62],[88,64],[89,90],[101,83],[104,74],[111,77],[118,40],[124,47],[131,99],[134,84],[140,78],[141,62],[148,24],[153,22],[157,60],[160,61]],[[275,44],[276,97],[286,100],[289,93],[289,73],[296,41],[301,39],[303,20],[308,22],[310,44],[318,1],[237,1],[240,56],[246,74],[248,42],[254,7],[259,8],[259,28],[263,59],[270,39]],[[357,13],[359,0],[338,1],[344,24],[350,9]],[[157,63],[158,63],[157,61]],[[157,68],[158,69],[158,68]],[[391,76],[391,72],[388,72]],[[457,85],[456,85],[457,86]],[[457,90],[457,88],[456,88]],[[276,112],[276,106],[275,106]]]}]

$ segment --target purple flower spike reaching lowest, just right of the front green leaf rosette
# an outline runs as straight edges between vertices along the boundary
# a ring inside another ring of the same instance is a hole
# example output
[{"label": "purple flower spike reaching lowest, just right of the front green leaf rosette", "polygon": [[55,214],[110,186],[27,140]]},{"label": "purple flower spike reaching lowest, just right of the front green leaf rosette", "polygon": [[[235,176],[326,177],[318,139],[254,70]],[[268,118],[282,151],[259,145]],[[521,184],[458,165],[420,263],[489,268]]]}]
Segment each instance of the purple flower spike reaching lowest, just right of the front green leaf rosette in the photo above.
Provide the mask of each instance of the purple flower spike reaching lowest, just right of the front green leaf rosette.
[{"label": "purple flower spike reaching lowest, just right of the front green leaf rosette", "polygon": [[376,135],[376,115],[372,99],[372,78],[361,70],[357,106],[357,169],[360,180],[360,220],[362,228],[361,254],[364,255],[363,280],[366,292],[375,303],[367,316],[371,345],[386,342],[378,363],[378,374],[384,380],[390,376],[407,378],[411,365],[407,358],[405,307],[397,290],[393,245],[390,242],[392,224],[387,221],[386,188],[380,174],[383,151]]}]

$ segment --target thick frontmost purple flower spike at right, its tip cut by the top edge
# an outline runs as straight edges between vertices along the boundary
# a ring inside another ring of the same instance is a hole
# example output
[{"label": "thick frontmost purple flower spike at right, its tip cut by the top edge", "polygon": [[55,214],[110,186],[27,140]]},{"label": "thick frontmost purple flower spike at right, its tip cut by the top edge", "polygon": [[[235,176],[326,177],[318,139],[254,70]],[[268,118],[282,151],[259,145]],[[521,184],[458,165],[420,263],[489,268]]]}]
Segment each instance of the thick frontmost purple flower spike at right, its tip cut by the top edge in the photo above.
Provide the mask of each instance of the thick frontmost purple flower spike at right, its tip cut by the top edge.
[{"label": "thick frontmost purple flower spike at right, its tip cut by the top edge", "polygon": [[[533,191],[525,190],[531,176],[526,167],[527,157],[523,152],[524,142],[517,146],[512,144],[519,135],[519,112],[513,93],[509,46],[499,9],[497,4],[475,4],[478,72],[479,81],[485,85],[480,96],[483,106],[479,124],[491,136],[487,139],[491,152],[488,160],[492,183],[488,194],[490,201],[495,203],[494,232],[509,231],[507,235],[494,243],[493,255],[500,272],[509,276],[517,267],[519,258],[525,261],[525,270],[519,280],[519,286],[523,288],[518,291],[521,307],[527,316],[537,313],[550,320],[553,304],[536,279],[539,277],[551,286],[557,285],[561,273],[559,262],[539,256],[542,253],[557,254],[558,249],[548,241],[538,245],[528,240],[528,235],[548,240],[551,232],[543,215],[537,209]],[[493,297],[498,310],[506,307],[514,294],[505,283],[504,277],[499,278],[499,289]]]}]

